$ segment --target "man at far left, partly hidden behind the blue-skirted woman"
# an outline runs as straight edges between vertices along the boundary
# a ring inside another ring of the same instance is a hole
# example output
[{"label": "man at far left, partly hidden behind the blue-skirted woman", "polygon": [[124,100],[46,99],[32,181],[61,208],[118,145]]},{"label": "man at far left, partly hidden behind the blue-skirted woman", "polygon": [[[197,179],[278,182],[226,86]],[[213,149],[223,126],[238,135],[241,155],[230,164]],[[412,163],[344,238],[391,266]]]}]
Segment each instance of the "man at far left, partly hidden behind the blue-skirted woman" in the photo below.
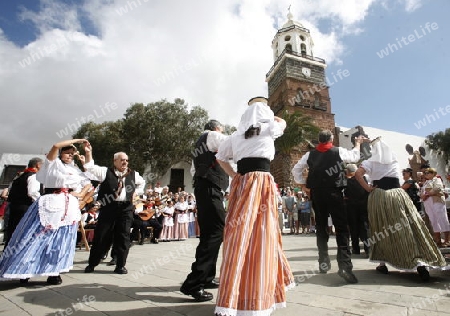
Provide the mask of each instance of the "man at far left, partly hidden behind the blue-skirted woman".
[{"label": "man at far left, partly hidden behind the blue-skirted woman", "polygon": [[30,159],[28,167],[12,181],[8,194],[9,219],[6,227],[5,248],[25,212],[41,196],[41,184],[36,180],[36,172],[39,171],[42,163],[41,158]]}]

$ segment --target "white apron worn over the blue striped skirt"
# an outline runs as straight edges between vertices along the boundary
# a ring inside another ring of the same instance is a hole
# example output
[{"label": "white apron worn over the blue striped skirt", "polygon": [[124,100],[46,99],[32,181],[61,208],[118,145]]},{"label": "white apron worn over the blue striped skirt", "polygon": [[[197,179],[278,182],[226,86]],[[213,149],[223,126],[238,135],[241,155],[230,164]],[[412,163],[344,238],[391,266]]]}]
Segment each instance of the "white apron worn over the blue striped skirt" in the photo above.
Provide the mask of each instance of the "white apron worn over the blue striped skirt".
[{"label": "white apron worn over the blue striped skirt", "polygon": [[[66,213],[66,196],[69,198]],[[71,194],[46,194],[39,198],[39,219],[48,229],[73,225],[81,219],[78,200]]]}]

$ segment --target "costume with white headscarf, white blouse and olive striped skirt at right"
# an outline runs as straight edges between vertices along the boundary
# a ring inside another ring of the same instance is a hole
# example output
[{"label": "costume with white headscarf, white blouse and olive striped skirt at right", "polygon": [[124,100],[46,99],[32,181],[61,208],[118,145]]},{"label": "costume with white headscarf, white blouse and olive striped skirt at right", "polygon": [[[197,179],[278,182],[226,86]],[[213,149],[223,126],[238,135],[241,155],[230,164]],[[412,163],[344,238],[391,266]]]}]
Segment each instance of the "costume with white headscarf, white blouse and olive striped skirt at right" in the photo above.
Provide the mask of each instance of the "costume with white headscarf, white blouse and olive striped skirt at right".
[{"label": "costume with white headscarf, white blouse and olive striped skirt at right", "polygon": [[372,146],[372,157],[361,167],[377,187],[368,199],[369,259],[400,270],[445,269],[444,257],[411,198],[400,188],[398,163],[390,148],[378,140]]}]

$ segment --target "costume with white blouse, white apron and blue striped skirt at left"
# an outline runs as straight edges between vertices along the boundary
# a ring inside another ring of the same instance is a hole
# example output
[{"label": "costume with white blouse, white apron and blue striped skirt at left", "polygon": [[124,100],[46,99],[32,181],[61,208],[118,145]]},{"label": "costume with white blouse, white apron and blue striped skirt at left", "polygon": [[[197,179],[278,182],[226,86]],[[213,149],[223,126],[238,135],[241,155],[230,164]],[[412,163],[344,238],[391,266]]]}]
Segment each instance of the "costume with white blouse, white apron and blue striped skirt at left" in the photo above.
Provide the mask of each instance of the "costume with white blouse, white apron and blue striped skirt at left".
[{"label": "costume with white blouse, white apron and blue striped skirt at left", "polygon": [[[58,276],[73,267],[79,191],[90,180],[73,164],[45,160],[36,174],[46,193],[25,213],[0,258],[1,279]],[[51,192],[51,193],[50,193]]]}]

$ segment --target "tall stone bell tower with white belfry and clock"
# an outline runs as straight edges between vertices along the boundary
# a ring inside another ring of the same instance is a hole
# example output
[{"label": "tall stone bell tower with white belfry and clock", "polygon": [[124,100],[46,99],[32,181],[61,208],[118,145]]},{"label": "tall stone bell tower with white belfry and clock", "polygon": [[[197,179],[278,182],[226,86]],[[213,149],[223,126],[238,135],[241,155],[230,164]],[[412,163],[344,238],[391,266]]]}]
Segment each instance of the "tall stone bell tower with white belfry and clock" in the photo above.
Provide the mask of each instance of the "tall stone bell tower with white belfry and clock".
[{"label": "tall stone bell tower with white belfry and clock", "polygon": [[[309,30],[294,21],[291,12],[287,18],[272,40],[274,64],[266,75],[269,105],[275,115],[282,117],[286,110],[299,111],[310,116],[320,129],[335,133],[325,60],[314,56],[314,42]],[[338,137],[334,139],[338,140]],[[306,150],[299,147],[292,151],[291,167]],[[282,180],[280,169],[285,168],[282,165],[275,157],[271,168],[275,181],[281,187],[292,185],[292,180],[289,183]]]}]

